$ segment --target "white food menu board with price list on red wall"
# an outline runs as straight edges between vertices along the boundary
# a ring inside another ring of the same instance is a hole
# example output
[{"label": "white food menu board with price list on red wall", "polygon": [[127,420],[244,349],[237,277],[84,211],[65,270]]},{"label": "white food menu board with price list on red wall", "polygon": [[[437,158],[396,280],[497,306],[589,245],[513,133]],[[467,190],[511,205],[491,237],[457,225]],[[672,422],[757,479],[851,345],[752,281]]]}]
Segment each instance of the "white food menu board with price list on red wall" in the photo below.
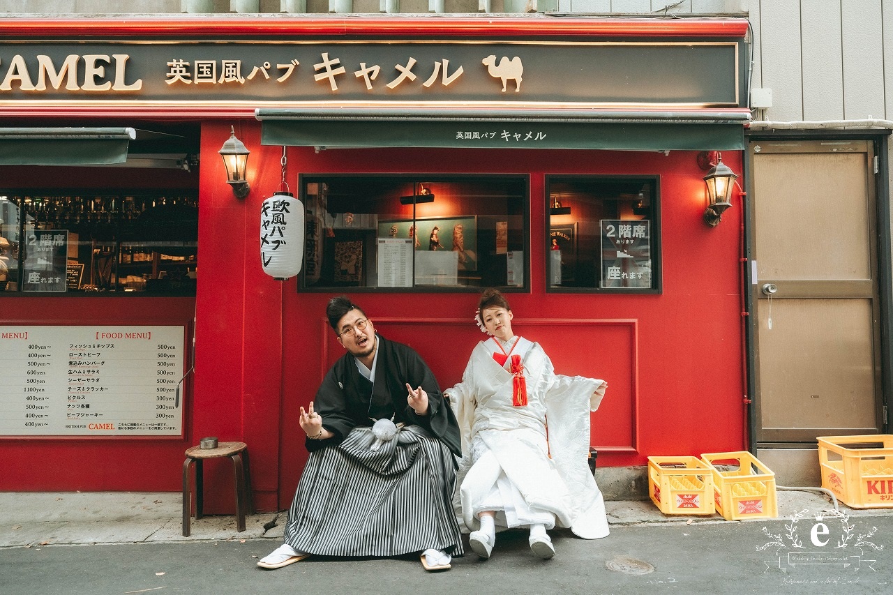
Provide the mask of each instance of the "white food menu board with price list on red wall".
[{"label": "white food menu board with price list on red wall", "polygon": [[179,436],[183,326],[0,326],[0,436]]}]

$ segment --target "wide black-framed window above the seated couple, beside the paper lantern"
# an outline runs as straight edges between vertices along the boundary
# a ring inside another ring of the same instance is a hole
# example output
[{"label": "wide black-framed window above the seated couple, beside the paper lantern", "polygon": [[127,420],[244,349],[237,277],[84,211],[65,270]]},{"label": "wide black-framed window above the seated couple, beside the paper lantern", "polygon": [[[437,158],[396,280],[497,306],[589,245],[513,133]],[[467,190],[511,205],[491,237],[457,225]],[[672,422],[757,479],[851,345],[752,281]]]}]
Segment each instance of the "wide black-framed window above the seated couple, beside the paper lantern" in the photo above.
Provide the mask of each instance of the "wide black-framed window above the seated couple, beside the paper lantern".
[{"label": "wide black-framed window above the seated couple, beside the paper lantern", "polygon": [[528,180],[303,176],[303,289],[527,286]]}]

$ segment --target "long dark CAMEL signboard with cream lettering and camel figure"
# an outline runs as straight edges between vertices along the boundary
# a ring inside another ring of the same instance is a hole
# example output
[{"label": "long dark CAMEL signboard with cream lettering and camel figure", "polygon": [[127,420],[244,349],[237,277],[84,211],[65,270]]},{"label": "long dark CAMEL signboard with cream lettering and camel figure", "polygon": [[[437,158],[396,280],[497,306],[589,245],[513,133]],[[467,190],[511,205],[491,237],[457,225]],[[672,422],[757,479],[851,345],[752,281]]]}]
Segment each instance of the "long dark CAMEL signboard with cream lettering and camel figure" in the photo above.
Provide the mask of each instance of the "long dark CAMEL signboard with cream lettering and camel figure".
[{"label": "long dark CAMEL signboard with cream lettering and camel figure", "polygon": [[189,44],[15,40],[0,44],[0,96],[24,102],[238,101],[283,107],[305,101],[389,104],[447,97],[467,106],[510,102],[503,108],[555,101],[665,106],[672,99],[665,87],[672,81],[680,92],[673,94],[679,101],[670,103],[740,106],[743,45],[736,40],[694,45],[385,38]]}]

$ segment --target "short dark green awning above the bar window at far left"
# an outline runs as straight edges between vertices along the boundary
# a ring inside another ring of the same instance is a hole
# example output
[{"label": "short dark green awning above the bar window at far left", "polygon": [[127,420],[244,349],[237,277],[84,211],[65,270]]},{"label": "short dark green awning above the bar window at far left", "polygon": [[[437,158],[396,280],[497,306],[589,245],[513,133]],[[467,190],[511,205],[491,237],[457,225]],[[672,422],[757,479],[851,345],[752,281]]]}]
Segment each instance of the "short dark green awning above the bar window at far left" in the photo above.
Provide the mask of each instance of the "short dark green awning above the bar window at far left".
[{"label": "short dark green awning above the bar window at far left", "polygon": [[134,138],[132,128],[0,128],[0,164],[124,163]]}]

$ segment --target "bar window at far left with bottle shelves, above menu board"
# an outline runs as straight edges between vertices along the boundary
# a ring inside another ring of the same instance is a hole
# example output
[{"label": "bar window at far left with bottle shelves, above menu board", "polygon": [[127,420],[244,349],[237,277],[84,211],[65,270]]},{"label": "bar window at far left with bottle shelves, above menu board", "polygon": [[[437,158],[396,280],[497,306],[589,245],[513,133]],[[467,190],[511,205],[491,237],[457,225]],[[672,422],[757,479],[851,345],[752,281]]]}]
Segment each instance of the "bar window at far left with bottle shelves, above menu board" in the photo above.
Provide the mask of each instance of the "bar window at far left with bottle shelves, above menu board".
[{"label": "bar window at far left with bottle shelves, above menu board", "polygon": [[195,295],[195,194],[55,192],[0,196],[0,291]]}]

